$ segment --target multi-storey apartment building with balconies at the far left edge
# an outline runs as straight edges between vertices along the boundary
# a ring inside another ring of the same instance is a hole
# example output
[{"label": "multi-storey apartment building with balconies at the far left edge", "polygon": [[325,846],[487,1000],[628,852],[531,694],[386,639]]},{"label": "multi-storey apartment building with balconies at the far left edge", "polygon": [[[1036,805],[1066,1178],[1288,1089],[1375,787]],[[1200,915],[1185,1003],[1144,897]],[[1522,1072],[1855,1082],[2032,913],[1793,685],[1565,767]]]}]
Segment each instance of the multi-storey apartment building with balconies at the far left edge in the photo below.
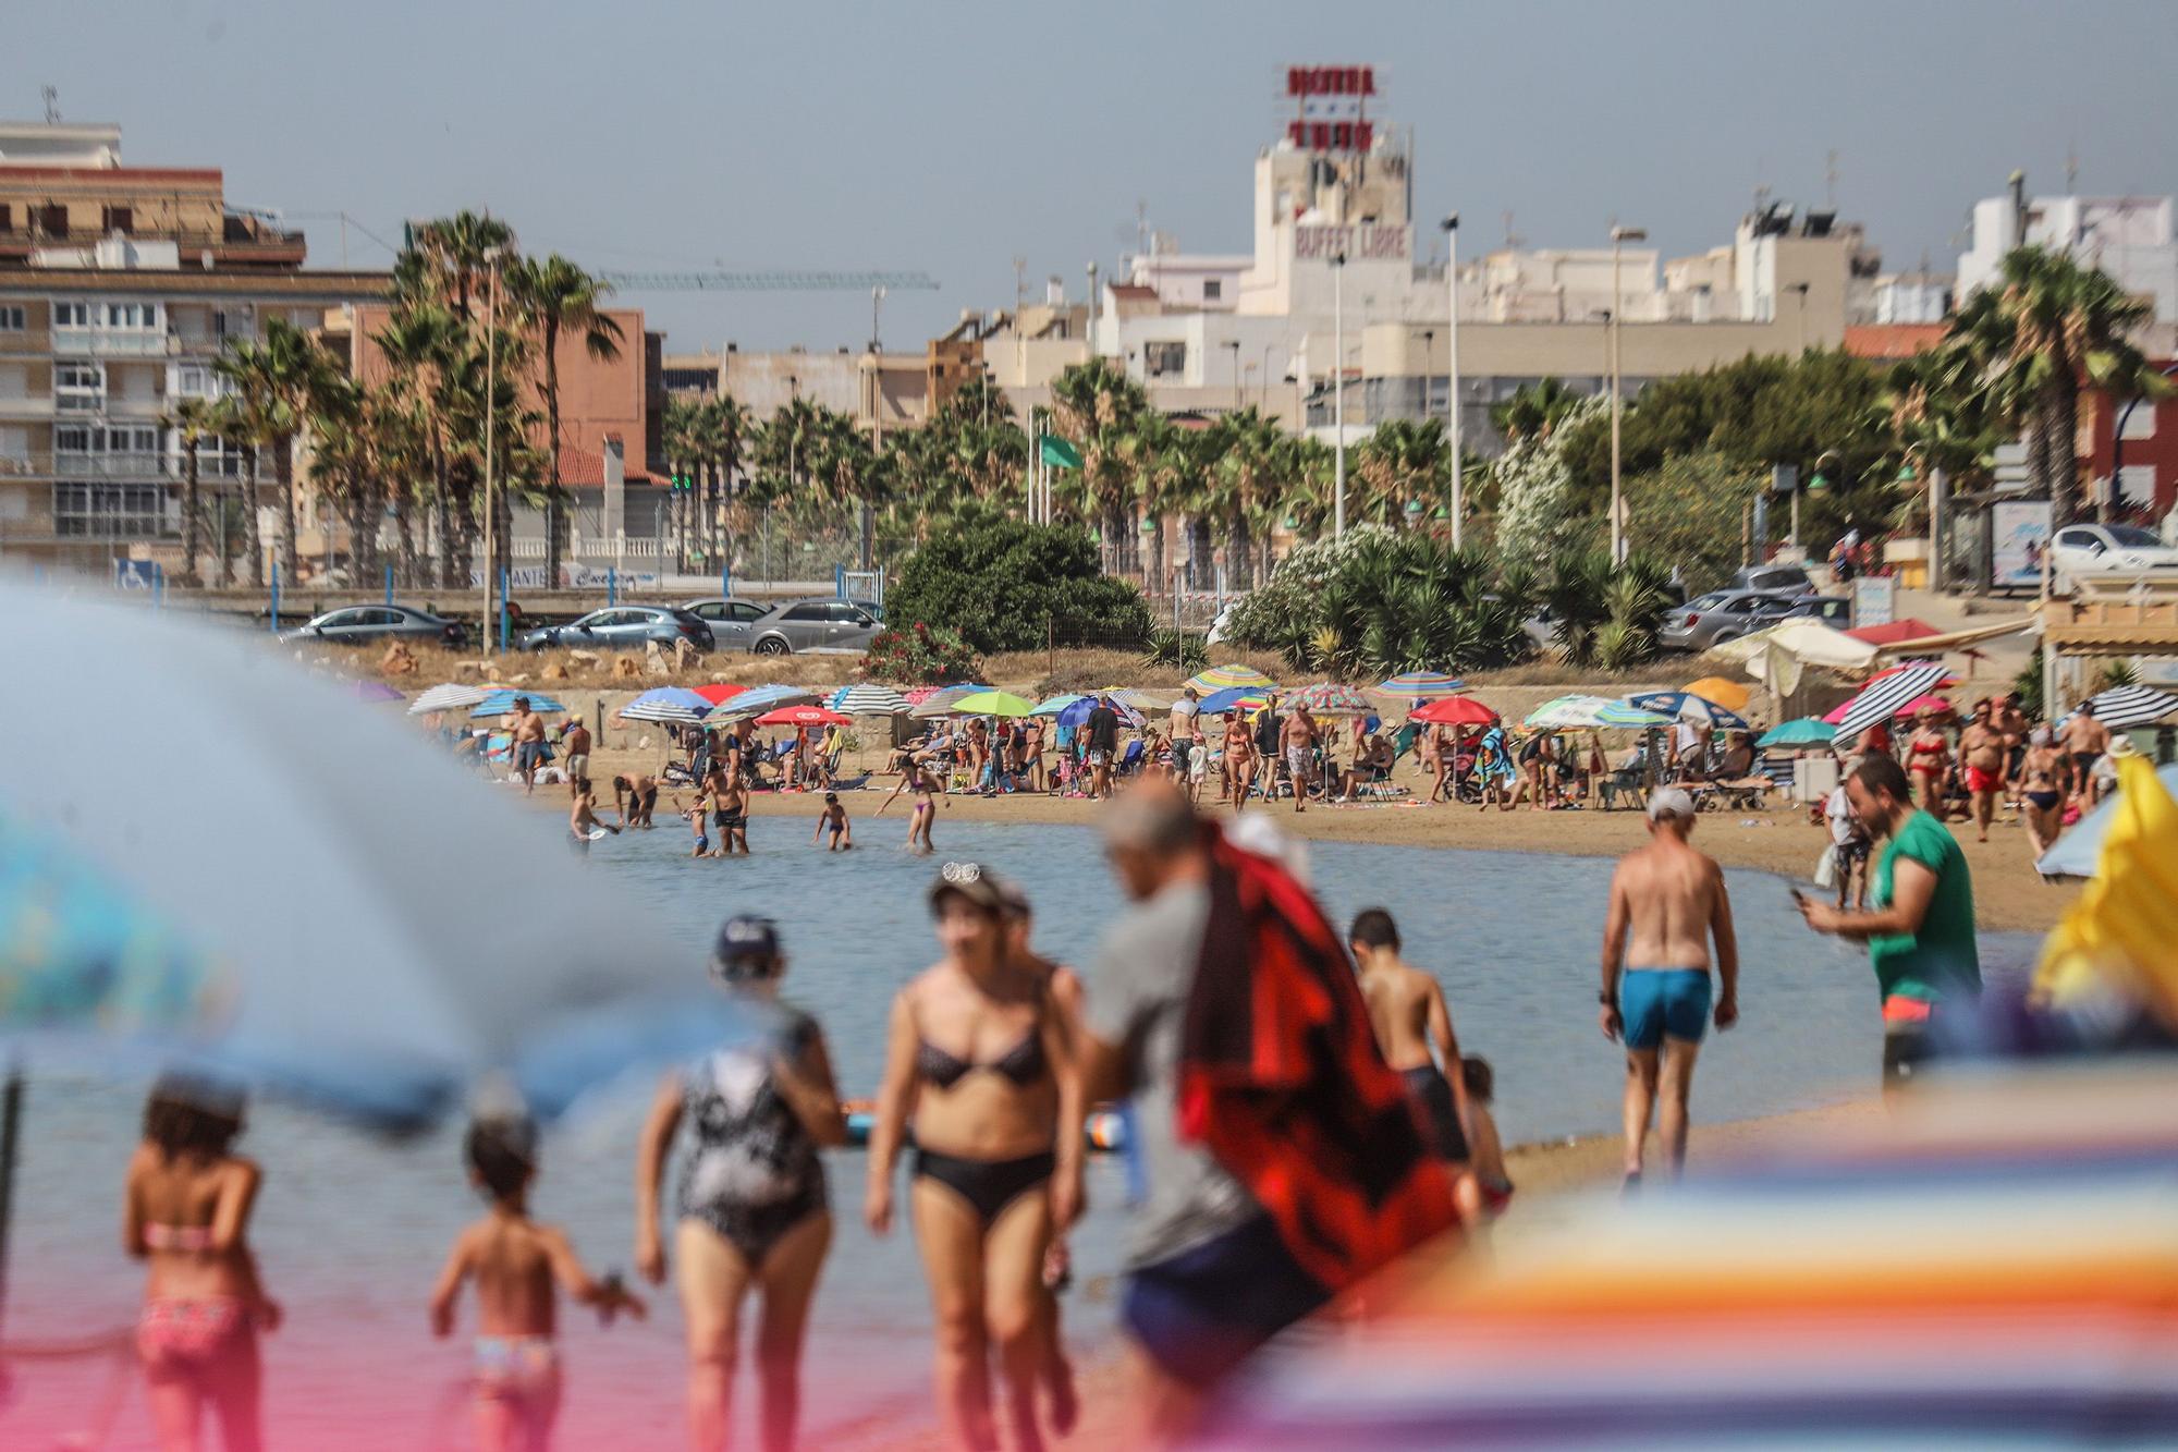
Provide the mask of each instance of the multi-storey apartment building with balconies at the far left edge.
[{"label": "multi-storey apartment building with balconies at the far left edge", "polygon": [[[218,168],[124,166],[120,126],[0,122],[0,556],[179,569],[174,403],[216,397],[213,360],[272,318],[318,327],[392,283],[303,262]],[[200,449],[213,491],[240,469]]]}]

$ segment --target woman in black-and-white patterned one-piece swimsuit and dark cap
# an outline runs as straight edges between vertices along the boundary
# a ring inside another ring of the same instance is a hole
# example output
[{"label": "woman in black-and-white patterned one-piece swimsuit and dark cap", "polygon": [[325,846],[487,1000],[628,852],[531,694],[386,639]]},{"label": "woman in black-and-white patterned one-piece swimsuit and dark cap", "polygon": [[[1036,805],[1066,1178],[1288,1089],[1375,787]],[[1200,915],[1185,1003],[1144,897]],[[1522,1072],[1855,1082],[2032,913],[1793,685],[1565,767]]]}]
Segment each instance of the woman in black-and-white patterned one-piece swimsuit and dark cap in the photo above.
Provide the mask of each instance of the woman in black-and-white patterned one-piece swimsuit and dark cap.
[{"label": "woman in black-and-white patterned one-piece swimsuit and dark cap", "polygon": [[653,1284],[666,1278],[658,1188],[686,1118],[695,1142],[682,1166],[673,1254],[688,1326],[690,1443],[725,1445],[741,1299],[758,1291],[762,1445],[791,1448],[802,1411],[802,1336],[832,1245],[817,1149],[843,1145],[847,1121],[817,1020],[775,1003],[786,955],[771,920],[727,920],[710,970],[775,1027],[769,1038],[719,1049],[658,1086],[636,1153],[636,1267]]}]

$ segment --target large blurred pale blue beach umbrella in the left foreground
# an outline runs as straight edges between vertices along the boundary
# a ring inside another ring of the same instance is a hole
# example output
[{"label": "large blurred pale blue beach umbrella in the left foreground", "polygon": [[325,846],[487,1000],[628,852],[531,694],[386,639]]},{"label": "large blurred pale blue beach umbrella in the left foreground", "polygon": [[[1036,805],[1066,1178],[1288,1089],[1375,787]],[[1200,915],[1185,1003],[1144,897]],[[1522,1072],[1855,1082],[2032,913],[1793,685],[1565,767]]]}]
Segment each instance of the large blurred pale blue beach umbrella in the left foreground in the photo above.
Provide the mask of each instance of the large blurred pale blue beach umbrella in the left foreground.
[{"label": "large blurred pale blue beach umbrella in the left foreground", "polygon": [[579,870],[564,811],[501,800],[396,722],[340,711],[338,685],[179,613],[4,584],[0,602],[52,626],[0,641],[11,687],[98,715],[157,698],[192,763],[115,772],[98,733],[11,726],[0,1038],[33,1057],[213,1068],[418,1127],[492,1070],[549,1118],[749,1023],[697,946]]}]

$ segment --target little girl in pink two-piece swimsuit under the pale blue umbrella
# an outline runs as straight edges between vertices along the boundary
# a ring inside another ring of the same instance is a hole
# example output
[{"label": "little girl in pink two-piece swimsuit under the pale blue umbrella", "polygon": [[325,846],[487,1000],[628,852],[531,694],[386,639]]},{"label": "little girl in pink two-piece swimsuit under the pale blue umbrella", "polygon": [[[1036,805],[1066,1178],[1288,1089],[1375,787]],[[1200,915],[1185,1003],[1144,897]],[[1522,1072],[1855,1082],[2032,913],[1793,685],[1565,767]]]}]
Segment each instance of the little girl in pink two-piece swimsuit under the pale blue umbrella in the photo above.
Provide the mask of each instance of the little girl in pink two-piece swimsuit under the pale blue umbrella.
[{"label": "little girl in pink two-piece swimsuit under the pale blue umbrella", "polygon": [[146,1262],[135,1341],[166,1452],[194,1452],[207,1406],[227,1452],[264,1445],[257,1332],[279,1330],[281,1310],[248,1245],[264,1175],[233,1153],[240,1134],[240,1092],[170,1075],[144,1103],[129,1160],[122,1245]]}]

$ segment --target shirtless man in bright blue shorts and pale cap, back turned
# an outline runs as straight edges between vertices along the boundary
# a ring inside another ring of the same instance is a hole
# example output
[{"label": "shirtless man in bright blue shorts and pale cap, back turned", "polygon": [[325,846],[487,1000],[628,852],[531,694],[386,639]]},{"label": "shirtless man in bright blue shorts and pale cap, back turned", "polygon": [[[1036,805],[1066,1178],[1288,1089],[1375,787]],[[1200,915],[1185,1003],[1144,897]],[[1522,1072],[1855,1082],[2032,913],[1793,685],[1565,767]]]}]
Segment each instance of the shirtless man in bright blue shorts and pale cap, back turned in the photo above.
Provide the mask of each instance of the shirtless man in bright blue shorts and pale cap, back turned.
[{"label": "shirtless man in bright blue shorts and pale cap, back turned", "polygon": [[[1694,831],[1694,798],[1660,787],[1649,798],[1649,846],[1618,861],[1612,905],[1603,920],[1603,1038],[1625,1040],[1625,1175],[1640,1184],[1642,1145],[1657,1088],[1664,1155],[1677,1175],[1686,1166],[1686,1097],[1694,1084],[1694,1051],[1710,1023],[1710,940],[1716,940],[1716,1027],[1740,1018],[1740,946],[1732,933],[1732,900],[1714,861],[1686,846]],[[1631,937],[1631,944],[1627,942]],[[1660,1064],[1662,1057],[1662,1064]]]}]

